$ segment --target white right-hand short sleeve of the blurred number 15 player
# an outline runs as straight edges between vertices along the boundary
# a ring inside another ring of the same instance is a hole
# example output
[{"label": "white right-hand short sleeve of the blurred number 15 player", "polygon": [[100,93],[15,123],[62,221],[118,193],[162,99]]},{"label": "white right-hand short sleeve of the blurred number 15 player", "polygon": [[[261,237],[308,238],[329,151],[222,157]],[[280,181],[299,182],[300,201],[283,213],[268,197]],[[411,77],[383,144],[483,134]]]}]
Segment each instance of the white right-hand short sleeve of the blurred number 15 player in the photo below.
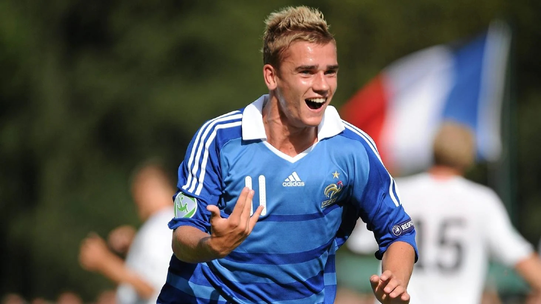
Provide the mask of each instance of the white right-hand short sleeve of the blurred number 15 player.
[{"label": "white right-hand short sleeve of the blurred number 15 player", "polygon": [[491,255],[499,262],[514,267],[533,253],[533,246],[512,226],[502,201],[491,190],[484,204],[484,229]]}]

